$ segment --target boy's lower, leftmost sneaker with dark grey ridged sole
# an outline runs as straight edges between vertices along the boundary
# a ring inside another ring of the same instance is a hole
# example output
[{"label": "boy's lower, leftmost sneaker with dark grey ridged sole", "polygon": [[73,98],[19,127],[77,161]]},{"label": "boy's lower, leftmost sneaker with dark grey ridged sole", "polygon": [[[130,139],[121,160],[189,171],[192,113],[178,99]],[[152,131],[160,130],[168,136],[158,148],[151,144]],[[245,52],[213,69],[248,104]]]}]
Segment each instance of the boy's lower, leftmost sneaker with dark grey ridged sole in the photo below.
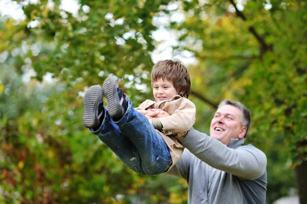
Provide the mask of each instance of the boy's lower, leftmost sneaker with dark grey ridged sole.
[{"label": "boy's lower, leftmost sneaker with dark grey ridged sole", "polygon": [[98,128],[104,116],[103,94],[101,86],[93,85],[87,89],[83,101],[83,125],[87,128]]}]

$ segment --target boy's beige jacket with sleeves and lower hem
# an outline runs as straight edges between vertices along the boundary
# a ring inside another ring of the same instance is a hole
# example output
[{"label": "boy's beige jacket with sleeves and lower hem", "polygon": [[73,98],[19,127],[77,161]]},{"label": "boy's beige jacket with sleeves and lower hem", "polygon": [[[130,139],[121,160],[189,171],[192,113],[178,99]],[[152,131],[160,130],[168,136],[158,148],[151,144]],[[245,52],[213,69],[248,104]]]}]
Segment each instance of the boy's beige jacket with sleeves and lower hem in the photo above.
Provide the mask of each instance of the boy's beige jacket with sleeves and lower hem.
[{"label": "boy's beige jacket with sleeves and lower hem", "polygon": [[182,146],[173,135],[191,129],[195,122],[196,108],[189,99],[176,95],[168,101],[146,100],[135,109],[147,110],[150,108],[160,108],[170,115],[168,117],[159,118],[163,125],[163,132],[156,129],[170,151],[172,165],[168,168],[169,170],[178,162],[184,150],[184,146]]}]

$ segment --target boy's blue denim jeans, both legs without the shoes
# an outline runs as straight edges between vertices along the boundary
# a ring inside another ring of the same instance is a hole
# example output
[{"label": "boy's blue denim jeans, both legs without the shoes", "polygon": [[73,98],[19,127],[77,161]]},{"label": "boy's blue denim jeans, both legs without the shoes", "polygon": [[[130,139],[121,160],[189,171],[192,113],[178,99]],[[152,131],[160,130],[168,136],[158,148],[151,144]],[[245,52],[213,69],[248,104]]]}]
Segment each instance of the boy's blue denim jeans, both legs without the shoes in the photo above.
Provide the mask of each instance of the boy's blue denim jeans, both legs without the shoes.
[{"label": "boy's blue denim jeans, both legs without the shoes", "polygon": [[165,172],[172,164],[169,149],[148,119],[135,110],[131,101],[119,121],[114,121],[104,109],[104,119],[98,130],[89,129],[109,147],[127,167],[144,175]]}]

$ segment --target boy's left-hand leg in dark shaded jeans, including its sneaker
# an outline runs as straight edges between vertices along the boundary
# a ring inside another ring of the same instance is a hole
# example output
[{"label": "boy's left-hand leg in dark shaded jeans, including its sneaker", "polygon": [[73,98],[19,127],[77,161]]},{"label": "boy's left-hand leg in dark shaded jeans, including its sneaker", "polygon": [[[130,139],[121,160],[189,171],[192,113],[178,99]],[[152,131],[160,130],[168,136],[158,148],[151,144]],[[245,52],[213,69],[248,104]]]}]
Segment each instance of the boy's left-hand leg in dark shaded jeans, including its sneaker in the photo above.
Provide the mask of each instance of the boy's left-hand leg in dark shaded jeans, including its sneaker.
[{"label": "boy's left-hand leg in dark shaded jeans, including its sneaker", "polygon": [[100,85],[91,86],[84,95],[83,124],[96,134],[130,169],[140,173],[139,153],[135,145],[110,121],[107,110],[103,107],[103,93]]}]

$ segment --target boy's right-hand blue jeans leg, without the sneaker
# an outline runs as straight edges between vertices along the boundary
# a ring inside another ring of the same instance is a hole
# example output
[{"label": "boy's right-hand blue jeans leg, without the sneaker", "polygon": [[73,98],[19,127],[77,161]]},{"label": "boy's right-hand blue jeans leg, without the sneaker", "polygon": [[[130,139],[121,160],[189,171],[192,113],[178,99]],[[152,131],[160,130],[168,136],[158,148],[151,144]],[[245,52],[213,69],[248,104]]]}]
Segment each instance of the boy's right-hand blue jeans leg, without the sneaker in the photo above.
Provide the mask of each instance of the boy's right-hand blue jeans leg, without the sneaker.
[{"label": "boy's right-hand blue jeans leg, without the sneaker", "polygon": [[172,164],[169,148],[148,119],[128,103],[124,116],[115,124],[132,141],[140,154],[144,174],[157,175]]}]

